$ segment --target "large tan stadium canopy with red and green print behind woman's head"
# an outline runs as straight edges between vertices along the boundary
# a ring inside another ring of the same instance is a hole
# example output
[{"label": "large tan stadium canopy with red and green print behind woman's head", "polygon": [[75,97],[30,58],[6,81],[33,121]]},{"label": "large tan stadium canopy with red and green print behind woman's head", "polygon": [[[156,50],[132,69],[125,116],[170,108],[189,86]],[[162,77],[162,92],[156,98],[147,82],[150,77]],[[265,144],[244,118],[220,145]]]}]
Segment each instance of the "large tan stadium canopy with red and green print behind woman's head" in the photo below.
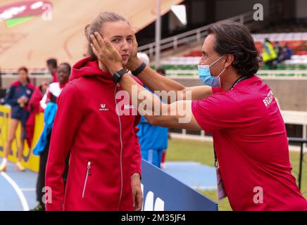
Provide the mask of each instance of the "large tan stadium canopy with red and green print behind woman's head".
[{"label": "large tan stadium canopy with red and green print behind woman's head", "polygon": [[[182,0],[161,1],[161,14]],[[47,58],[75,63],[87,52],[84,27],[101,11],[114,11],[134,31],[156,20],[156,0],[1,0],[0,68],[44,68]]]}]

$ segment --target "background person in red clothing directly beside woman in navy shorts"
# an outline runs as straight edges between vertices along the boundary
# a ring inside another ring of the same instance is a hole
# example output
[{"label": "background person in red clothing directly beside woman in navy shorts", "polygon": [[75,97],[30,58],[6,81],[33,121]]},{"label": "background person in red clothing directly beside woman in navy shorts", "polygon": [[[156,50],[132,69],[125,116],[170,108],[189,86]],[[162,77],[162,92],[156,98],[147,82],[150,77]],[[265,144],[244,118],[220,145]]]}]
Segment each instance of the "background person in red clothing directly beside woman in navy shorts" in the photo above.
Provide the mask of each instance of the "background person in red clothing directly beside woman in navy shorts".
[{"label": "background person in red clothing directly beside woman in navy shorts", "polygon": [[32,139],[34,135],[35,129],[35,115],[37,113],[43,113],[44,110],[39,107],[39,101],[42,100],[43,95],[48,88],[48,82],[43,81],[41,85],[37,86],[33,91],[33,94],[29,100],[27,105],[27,110],[30,112],[29,118],[27,119],[27,124],[25,124],[25,131],[26,131],[26,139],[27,139],[27,146],[31,148],[32,146]]}]

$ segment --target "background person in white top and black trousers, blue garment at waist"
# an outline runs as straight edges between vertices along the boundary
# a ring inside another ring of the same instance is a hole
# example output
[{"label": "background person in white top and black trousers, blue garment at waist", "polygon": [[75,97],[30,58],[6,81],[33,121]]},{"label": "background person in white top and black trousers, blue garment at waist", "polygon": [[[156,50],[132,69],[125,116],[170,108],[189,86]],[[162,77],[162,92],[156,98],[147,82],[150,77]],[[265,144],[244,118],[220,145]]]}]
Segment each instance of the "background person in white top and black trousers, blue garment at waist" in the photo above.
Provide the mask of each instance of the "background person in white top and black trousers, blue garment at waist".
[{"label": "background person in white top and black trousers, blue garment at waist", "polygon": [[[54,123],[54,117],[57,110],[57,99],[64,86],[68,84],[71,67],[68,63],[62,63],[58,67],[58,82],[51,83],[40,101],[41,108],[44,110],[44,130],[39,138],[37,146],[33,150],[34,155],[39,155],[39,173],[37,176],[37,201],[39,204],[32,211],[45,211],[45,205],[42,200],[44,196],[43,188],[45,186],[46,162],[49,154],[49,143],[51,139],[51,130]],[[63,179],[67,177],[68,158],[66,159],[65,172]]]}]

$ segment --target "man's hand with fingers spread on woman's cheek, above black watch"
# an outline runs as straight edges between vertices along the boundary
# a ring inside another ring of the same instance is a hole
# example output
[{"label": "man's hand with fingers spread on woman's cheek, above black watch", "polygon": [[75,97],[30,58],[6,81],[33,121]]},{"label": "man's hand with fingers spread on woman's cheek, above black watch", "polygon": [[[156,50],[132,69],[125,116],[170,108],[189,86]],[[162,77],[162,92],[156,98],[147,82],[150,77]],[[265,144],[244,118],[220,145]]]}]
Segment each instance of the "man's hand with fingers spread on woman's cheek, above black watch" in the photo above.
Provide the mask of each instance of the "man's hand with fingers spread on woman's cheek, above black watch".
[{"label": "man's hand with fingers spread on woman's cheek, above black watch", "polygon": [[122,69],[123,65],[120,53],[118,53],[108,39],[101,37],[99,32],[95,32],[94,34],[91,35],[93,41],[91,47],[97,59],[108,68],[111,74]]}]

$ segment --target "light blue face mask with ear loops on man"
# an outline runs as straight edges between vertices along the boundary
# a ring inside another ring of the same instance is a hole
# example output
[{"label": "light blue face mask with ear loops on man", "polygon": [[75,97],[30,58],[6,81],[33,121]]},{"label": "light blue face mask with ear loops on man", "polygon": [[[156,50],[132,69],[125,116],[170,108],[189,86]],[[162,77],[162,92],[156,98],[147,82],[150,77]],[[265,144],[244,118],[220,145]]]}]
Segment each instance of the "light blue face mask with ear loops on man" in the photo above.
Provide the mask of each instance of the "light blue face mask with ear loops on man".
[{"label": "light blue face mask with ear loops on man", "polygon": [[201,80],[201,82],[203,82],[203,84],[207,84],[208,86],[220,86],[220,75],[222,75],[222,73],[226,70],[226,68],[224,68],[224,70],[220,72],[220,74],[217,77],[213,77],[210,72],[210,67],[211,65],[218,62],[218,60],[220,60],[223,57],[224,56],[220,56],[220,58],[215,60],[210,65],[198,65],[199,79]]}]

